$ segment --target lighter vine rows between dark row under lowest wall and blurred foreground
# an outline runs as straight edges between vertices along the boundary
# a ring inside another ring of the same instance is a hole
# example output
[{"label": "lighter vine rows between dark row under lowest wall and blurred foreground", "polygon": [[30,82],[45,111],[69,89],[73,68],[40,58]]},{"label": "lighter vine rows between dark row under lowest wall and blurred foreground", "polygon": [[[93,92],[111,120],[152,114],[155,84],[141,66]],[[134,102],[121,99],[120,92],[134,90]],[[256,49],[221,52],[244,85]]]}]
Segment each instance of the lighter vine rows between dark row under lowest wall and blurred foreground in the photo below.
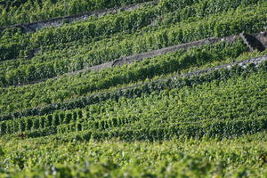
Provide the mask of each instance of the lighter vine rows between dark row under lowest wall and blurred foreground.
[{"label": "lighter vine rows between dark row under lowest wall and blurred foreground", "polygon": [[[152,93],[150,96],[142,94],[140,99],[121,98],[118,101],[101,102],[101,104],[85,107],[85,109],[58,111],[47,116],[26,117],[1,122],[0,127],[2,134],[31,130],[36,130],[38,133],[43,132],[42,129],[56,128],[57,133],[60,134],[89,130],[98,135],[102,133],[113,135],[113,130],[121,133],[128,129],[133,132],[146,128],[143,130],[146,132],[148,128],[170,129],[171,125],[173,125],[171,126],[172,129],[166,132],[168,134],[172,134],[175,128],[178,130],[185,128],[185,131],[190,130],[193,134],[198,128],[203,129],[201,130],[204,132],[203,134],[215,135],[223,132],[220,129],[225,130],[231,128],[232,125],[237,127],[232,129],[232,132],[239,134],[260,131],[267,126],[264,118],[266,111],[262,109],[264,107],[264,92],[263,90],[259,92],[259,88],[264,87],[266,74],[260,72],[257,75],[252,73],[247,77],[239,77],[244,76],[245,73],[239,71],[235,77],[228,79],[227,82],[224,80],[219,84],[220,89],[218,84],[214,82],[202,86],[195,85],[191,89],[183,87],[182,89],[163,90]],[[249,85],[244,84],[245,80],[251,81]],[[233,91],[233,86],[239,88],[238,91]],[[190,94],[185,94],[186,91],[190,91]],[[245,99],[246,102],[244,102]],[[210,102],[214,102],[212,106]],[[223,103],[227,103],[227,105],[223,105]],[[194,107],[198,107],[198,109],[193,109]],[[240,121],[245,122],[243,124]],[[212,124],[206,125],[205,123]],[[255,125],[255,123],[262,126]],[[181,133],[178,132],[178,134]],[[225,136],[226,133],[223,134]],[[231,133],[228,134],[231,135]],[[128,134],[126,135],[129,137]],[[136,136],[136,134],[129,135]],[[142,135],[146,135],[150,139],[155,137],[155,135],[150,134]],[[113,136],[117,137],[117,134]],[[132,140],[131,137],[128,139]]]}]

